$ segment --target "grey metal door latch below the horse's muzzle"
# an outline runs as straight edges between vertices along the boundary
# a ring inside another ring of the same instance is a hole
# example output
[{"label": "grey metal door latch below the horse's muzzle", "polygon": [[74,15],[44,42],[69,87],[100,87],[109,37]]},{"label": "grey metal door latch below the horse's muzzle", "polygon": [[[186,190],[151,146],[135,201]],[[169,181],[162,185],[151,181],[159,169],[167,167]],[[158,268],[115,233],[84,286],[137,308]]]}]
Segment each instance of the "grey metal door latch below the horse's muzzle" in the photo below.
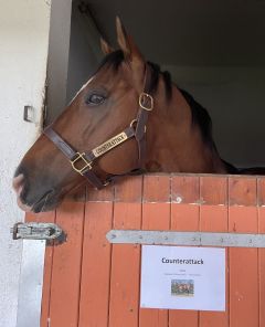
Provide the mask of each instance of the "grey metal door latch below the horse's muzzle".
[{"label": "grey metal door latch below the horse's muzzle", "polygon": [[62,236],[63,230],[54,223],[18,222],[11,229],[13,240],[56,240]]}]

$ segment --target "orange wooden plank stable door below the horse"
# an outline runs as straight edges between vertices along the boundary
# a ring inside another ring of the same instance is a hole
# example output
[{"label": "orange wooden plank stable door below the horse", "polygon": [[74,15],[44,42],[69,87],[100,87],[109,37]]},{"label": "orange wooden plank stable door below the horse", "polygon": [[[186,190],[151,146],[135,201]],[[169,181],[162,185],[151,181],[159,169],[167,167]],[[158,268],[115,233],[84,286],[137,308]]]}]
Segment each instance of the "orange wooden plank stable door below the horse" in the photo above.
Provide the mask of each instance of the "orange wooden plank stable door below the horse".
[{"label": "orange wooden plank stable door below the horse", "polygon": [[265,250],[225,250],[225,312],[141,309],[140,245],[106,240],[112,229],[264,233],[264,205],[265,178],[160,175],[29,215],[67,234],[46,247],[41,326],[265,327]]}]

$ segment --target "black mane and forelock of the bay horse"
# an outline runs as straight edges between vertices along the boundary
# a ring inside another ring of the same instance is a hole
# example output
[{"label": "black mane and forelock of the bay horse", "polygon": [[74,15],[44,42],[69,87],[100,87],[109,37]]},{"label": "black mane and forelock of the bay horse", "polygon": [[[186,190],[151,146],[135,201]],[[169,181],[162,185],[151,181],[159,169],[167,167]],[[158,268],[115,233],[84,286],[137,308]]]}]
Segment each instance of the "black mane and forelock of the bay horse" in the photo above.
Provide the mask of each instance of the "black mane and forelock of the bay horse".
[{"label": "black mane and forelock of the bay horse", "polygon": [[[99,71],[103,66],[112,67],[114,71],[117,71],[120,64],[123,63],[125,56],[121,50],[116,50],[109,54],[107,54],[102,63],[98,66]],[[172,81],[171,75],[168,71],[161,71],[158,64],[152,62],[147,62],[148,65],[151,67],[151,80],[150,80],[150,93],[156,93],[159,83],[159,76],[162,76],[166,89],[166,97],[167,101],[170,101],[172,97]],[[178,87],[177,85],[174,85]],[[192,114],[192,124],[197,124],[200,127],[203,141],[211,147],[212,149],[216,150],[216,146],[212,138],[212,119],[208,113],[208,110],[201,106],[187,91],[178,87],[184,99],[187,101],[188,105],[190,106],[191,114]]]}]

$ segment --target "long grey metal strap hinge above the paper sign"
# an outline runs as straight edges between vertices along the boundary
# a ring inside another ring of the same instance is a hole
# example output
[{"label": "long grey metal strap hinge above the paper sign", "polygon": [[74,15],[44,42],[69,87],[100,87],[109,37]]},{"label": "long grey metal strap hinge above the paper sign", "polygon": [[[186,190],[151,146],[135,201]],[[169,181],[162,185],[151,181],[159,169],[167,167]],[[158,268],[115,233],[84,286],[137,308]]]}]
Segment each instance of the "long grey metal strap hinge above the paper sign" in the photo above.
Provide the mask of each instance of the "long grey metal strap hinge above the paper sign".
[{"label": "long grey metal strap hinge above the paper sign", "polygon": [[265,234],[112,230],[106,238],[114,244],[265,247]]}]

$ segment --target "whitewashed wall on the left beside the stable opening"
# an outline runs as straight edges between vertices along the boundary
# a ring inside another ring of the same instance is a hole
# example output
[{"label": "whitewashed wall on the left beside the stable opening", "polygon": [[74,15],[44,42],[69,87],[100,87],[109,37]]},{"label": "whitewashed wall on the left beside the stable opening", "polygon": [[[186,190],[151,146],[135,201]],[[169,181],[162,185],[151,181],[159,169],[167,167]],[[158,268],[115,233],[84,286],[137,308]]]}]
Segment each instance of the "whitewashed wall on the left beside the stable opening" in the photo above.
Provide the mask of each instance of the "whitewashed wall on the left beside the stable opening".
[{"label": "whitewashed wall on the left beside the stable opening", "polygon": [[[11,179],[40,128],[51,3],[0,0],[0,326],[14,327],[22,243],[10,228],[24,214]],[[34,123],[23,122],[24,105],[33,106]]]}]

